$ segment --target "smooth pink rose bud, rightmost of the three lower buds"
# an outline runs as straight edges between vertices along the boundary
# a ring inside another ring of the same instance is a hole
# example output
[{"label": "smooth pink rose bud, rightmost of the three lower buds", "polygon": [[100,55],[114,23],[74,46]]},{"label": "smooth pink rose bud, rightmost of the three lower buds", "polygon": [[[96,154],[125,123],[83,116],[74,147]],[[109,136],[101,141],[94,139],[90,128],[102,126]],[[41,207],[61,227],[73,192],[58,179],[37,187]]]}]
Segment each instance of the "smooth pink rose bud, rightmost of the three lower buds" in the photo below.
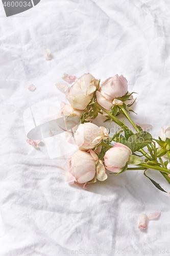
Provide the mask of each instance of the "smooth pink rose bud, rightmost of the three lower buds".
[{"label": "smooth pink rose bud, rightmost of the three lower buds", "polygon": [[104,156],[106,169],[113,173],[119,173],[126,166],[132,152],[122,143],[116,143]]}]

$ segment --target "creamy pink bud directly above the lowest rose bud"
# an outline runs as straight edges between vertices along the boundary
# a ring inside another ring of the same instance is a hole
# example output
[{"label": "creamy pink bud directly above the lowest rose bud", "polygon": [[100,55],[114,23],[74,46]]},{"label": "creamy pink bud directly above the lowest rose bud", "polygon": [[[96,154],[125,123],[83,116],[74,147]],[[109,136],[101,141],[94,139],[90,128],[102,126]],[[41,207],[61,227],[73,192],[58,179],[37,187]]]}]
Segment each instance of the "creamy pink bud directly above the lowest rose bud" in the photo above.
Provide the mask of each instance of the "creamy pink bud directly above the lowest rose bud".
[{"label": "creamy pink bud directly above the lowest rose bud", "polygon": [[94,148],[102,139],[107,139],[109,134],[103,126],[84,123],[79,125],[74,137],[79,150],[87,151],[89,148]]}]

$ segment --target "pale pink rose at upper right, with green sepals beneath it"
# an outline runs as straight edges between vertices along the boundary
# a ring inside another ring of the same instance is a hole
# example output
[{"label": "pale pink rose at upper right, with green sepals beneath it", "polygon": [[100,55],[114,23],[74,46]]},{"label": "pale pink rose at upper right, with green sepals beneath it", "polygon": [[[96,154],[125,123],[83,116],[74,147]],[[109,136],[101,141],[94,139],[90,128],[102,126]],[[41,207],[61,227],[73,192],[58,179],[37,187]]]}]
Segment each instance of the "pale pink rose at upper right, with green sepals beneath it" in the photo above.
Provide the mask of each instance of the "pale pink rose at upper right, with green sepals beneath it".
[{"label": "pale pink rose at upper right, with green sepals beneath it", "polygon": [[128,92],[128,81],[123,75],[109,77],[102,82],[101,87],[100,91],[96,91],[96,99],[104,109],[110,111],[113,105],[123,104],[116,100]]}]

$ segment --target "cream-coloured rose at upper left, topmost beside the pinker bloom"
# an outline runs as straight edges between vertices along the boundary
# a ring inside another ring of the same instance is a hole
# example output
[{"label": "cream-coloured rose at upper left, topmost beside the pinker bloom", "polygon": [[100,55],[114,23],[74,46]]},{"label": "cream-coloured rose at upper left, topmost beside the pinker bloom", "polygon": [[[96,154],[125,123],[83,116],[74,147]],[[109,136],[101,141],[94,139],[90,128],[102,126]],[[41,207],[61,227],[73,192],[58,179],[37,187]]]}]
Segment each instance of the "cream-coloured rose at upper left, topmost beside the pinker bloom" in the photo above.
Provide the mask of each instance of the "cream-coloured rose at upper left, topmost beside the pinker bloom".
[{"label": "cream-coloured rose at upper left, topmost beside the pinker bloom", "polygon": [[84,74],[79,77],[66,92],[66,98],[77,110],[85,110],[98,87],[99,80],[95,79],[91,74]]}]

